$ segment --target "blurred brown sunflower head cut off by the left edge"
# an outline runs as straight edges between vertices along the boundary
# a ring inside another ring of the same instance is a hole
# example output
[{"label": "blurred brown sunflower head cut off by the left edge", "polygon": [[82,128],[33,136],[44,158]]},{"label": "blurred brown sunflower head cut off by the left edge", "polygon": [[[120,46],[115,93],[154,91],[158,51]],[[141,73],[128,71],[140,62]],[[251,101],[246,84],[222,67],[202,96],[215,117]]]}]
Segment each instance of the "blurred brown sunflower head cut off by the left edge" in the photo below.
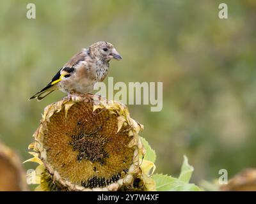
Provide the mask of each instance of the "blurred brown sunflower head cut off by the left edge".
[{"label": "blurred brown sunflower head cut off by the left edge", "polygon": [[0,143],[0,191],[28,191],[19,156]]}]

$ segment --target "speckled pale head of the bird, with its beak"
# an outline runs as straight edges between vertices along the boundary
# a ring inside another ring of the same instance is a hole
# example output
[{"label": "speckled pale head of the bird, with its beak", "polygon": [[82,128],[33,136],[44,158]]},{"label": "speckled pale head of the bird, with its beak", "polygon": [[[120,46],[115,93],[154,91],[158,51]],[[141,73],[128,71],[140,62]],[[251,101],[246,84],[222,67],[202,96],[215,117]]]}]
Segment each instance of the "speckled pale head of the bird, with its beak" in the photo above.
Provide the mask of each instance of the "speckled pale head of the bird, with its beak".
[{"label": "speckled pale head of the bird, with its beak", "polygon": [[99,41],[89,47],[92,57],[101,59],[102,61],[110,61],[111,59],[121,60],[122,56],[116,51],[116,48],[106,41]]}]

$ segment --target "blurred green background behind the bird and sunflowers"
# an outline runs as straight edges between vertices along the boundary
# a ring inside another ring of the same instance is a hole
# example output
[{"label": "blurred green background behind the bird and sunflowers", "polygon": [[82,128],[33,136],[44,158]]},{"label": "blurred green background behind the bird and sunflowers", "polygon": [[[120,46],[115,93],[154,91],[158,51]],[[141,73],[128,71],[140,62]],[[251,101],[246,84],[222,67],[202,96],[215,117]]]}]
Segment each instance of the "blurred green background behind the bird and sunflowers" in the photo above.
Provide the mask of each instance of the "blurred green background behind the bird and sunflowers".
[{"label": "blurred green background behind the bird and sunflowers", "polygon": [[[28,3],[36,19],[26,18]],[[220,3],[228,19],[218,18]],[[255,11],[254,0],[1,1],[0,140],[31,157],[44,107],[63,94],[28,98],[77,51],[104,40],[124,58],[111,61],[115,82],[163,82],[161,112],[129,105],[158,173],[177,175],[183,154],[196,183],[255,166]]]}]

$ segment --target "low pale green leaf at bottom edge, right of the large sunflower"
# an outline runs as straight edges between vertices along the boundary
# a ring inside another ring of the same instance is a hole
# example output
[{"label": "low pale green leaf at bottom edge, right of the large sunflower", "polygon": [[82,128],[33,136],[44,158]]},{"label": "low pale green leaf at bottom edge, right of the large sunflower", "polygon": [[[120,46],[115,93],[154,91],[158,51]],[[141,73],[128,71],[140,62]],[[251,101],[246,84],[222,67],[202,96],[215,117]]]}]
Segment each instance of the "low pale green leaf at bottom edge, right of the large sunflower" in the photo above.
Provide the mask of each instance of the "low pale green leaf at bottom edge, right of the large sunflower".
[{"label": "low pale green leaf at bottom edge, right of the large sunflower", "polygon": [[188,184],[168,175],[154,174],[152,179],[156,182],[157,191],[201,191],[195,184]]}]

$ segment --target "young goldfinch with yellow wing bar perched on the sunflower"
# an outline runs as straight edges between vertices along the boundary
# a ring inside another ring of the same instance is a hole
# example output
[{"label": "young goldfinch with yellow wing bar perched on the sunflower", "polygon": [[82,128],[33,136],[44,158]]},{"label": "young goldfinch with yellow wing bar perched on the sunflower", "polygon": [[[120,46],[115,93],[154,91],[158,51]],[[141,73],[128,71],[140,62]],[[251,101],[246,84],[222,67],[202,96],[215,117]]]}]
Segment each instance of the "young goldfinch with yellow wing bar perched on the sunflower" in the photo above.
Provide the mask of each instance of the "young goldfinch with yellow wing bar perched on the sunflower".
[{"label": "young goldfinch with yellow wing bar perched on the sunflower", "polygon": [[109,61],[120,60],[115,47],[106,41],[94,43],[89,48],[83,48],[68,61],[52,78],[44,89],[37,92],[29,100],[42,100],[52,91],[59,89],[68,94],[87,94],[93,91],[96,82],[102,82],[108,74]]}]

